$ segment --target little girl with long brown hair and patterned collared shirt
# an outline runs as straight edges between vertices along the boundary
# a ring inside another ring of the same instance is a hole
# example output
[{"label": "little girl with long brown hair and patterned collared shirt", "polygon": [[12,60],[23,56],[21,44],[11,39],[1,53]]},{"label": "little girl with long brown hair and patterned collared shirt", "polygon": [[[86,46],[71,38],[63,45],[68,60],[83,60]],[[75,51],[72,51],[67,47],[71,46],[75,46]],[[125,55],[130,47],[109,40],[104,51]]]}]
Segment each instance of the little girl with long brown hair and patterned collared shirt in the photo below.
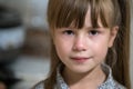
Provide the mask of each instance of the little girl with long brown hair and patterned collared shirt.
[{"label": "little girl with long brown hair and patterned collared shirt", "polygon": [[49,0],[51,70],[33,89],[130,89],[129,3]]}]

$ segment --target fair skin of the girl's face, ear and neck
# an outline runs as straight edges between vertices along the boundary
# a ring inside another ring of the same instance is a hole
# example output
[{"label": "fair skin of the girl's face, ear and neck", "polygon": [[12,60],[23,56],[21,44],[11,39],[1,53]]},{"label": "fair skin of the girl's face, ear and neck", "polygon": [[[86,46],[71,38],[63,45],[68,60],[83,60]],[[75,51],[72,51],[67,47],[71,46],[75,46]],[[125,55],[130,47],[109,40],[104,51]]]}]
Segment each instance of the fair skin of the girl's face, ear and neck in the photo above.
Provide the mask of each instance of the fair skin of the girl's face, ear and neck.
[{"label": "fair skin of the girl's face, ear and neck", "polygon": [[71,26],[54,31],[53,42],[65,66],[62,76],[70,89],[96,89],[106,78],[101,63],[113,44],[117,28],[103,28],[100,19],[98,23],[100,28],[92,28],[89,9],[82,29]]}]

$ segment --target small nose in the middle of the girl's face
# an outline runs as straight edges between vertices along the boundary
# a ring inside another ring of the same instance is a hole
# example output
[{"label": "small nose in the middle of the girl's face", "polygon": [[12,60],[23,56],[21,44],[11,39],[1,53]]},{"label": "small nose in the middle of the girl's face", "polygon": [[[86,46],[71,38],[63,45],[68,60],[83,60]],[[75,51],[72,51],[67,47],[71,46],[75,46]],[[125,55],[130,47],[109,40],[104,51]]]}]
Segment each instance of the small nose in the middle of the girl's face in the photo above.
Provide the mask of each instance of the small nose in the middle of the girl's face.
[{"label": "small nose in the middle of the girl's face", "polygon": [[86,50],[86,40],[83,37],[78,37],[74,39],[73,50],[74,51],[85,51]]}]

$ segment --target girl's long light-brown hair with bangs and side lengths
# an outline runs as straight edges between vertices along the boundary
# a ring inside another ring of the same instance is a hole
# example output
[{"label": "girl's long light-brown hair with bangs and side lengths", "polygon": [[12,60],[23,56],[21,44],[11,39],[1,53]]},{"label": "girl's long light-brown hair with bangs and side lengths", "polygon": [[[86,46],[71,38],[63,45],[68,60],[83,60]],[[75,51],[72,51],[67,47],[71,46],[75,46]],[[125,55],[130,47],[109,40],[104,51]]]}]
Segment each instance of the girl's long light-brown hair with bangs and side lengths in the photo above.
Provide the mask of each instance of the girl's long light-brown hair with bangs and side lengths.
[{"label": "girl's long light-brown hair with bangs and side lengths", "polygon": [[[119,26],[114,44],[109,49],[105,62],[112,67],[116,81],[131,89],[130,83],[130,0],[49,0],[48,22],[51,37],[57,28],[69,27],[73,21],[82,28],[88,9],[91,9],[92,27],[96,28],[98,18],[103,27]],[[61,63],[51,38],[51,69],[44,89],[53,89],[57,67]]]}]

